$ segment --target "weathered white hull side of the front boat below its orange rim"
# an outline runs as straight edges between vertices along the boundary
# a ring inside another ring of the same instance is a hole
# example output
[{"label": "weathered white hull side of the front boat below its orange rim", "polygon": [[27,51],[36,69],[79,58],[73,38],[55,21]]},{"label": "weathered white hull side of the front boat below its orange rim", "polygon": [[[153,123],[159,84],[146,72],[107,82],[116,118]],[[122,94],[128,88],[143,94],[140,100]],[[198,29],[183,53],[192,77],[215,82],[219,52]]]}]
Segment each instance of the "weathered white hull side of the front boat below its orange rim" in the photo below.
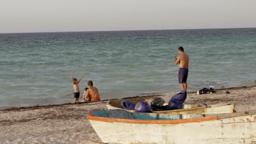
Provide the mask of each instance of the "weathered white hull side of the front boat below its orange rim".
[{"label": "weathered white hull side of the front boat below its orange rim", "polygon": [[179,124],[89,121],[106,143],[256,143],[256,115]]}]

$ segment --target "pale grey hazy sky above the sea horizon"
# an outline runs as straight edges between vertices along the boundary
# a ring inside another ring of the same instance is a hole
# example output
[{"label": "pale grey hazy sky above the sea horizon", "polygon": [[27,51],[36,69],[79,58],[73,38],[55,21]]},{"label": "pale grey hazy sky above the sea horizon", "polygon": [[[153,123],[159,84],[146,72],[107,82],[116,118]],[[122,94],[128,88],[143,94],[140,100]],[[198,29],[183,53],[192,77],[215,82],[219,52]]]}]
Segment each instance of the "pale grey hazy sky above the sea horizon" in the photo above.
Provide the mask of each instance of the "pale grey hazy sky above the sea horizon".
[{"label": "pale grey hazy sky above the sea horizon", "polygon": [[0,33],[243,27],[255,0],[0,0]]}]

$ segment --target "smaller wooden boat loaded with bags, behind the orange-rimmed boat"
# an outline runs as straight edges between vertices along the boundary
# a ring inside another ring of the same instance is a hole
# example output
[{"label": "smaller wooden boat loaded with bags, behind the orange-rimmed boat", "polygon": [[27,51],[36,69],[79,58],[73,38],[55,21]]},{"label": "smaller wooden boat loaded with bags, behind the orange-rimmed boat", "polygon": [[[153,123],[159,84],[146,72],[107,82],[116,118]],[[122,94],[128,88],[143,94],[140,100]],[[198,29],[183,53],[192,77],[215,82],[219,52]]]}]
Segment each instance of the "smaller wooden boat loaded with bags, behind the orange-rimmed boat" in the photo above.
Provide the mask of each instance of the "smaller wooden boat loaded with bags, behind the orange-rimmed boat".
[{"label": "smaller wooden boat loaded with bags, behind the orange-rimmed boat", "polygon": [[[146,101],[144,98],[133,98],[133,99],[125,99],[131,101],[133,104],[137,104],[139,101]],[[117,100],[110,100],[107,108],[108,110],[114,109],[123,109],[120,105],[123,99]],[[150,104],[150,101],[148,101]],[[123,109],[124,110],[124,109]],[[129,112],[135,112],[134,110],[126,110]],[[235,112],[235,105],[234,104],[227,104],[227,105],[214,105],[214,106],[202,106],[200,105],[183,105],[182,109],[179,110],[167,110],[167,111],[152,111],[155,113],[180,113],[180,114],[189,114],[189,113],[201,113],[201,114],[212,114],[212,113],[232,113]]]}]

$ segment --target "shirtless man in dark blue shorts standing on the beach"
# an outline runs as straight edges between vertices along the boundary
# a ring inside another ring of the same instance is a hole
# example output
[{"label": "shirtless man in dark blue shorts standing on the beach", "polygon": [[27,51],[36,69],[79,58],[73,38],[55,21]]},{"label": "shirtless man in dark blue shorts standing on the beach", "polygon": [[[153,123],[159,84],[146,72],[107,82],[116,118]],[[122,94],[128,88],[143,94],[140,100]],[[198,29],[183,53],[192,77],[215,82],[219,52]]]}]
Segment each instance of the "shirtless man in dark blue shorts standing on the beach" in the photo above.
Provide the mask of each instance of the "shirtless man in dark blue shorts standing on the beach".
[{"label": "shirtless man in dark blue shorts standing on the beach", "polygon": [[179,64],[179,86],[181,86],[182,90],[187,91],[189,56],[186,53],[184,53],[184,49],[182,46],[178,48],[178,53],[179,56],[173,57],[173,60],[175,64]]}]

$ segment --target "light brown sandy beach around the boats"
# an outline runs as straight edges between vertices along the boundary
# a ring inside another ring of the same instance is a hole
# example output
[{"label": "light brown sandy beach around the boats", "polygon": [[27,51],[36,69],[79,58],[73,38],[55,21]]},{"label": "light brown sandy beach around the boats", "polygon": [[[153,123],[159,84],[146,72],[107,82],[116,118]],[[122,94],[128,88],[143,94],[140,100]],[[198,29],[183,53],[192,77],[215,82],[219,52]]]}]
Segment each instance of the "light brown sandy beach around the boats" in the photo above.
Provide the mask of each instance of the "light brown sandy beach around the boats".
[{"label": "light brown sandy beach around the boats", "polygon": [[[216,89],[217,93],[189,92],[184,104],[235,104],[236,111],[256,110],[256,86]],[[230,94],[226,94],[229,91]],[[170,98],[170,95],[152,95]],[[86,119],[94,109],[107,109],[109,100],[90,103],[0,110],[0,143],[102,143]]]}]

